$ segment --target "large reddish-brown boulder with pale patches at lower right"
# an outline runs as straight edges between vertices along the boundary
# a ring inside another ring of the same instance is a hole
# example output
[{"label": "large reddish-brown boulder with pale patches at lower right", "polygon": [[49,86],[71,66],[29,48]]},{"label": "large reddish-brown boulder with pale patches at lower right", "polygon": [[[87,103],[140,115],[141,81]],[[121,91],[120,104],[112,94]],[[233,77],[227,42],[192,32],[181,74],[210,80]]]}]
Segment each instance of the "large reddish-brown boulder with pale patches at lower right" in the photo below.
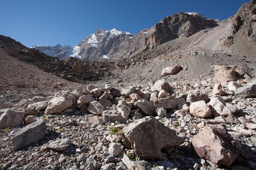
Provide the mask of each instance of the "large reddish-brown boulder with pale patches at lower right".
[{"label": "large reddish-brown boulder with pale patches at lower right", "polygon": [[193,150],[200,158],[231,165],[239,155],[236,141],[221,125],[207,125],[192,138]]}]

